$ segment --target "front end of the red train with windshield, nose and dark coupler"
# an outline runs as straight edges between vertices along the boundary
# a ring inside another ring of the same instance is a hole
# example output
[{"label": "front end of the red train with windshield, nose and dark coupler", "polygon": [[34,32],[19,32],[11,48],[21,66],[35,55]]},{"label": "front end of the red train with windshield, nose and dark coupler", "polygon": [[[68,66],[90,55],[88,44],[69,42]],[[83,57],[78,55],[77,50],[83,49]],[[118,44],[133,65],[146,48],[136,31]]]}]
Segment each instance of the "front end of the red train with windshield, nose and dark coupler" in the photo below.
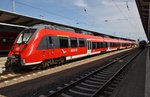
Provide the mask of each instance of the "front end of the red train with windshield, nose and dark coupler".
[{"label": "front end of the red train with windshield, nose and dark coupler", "polygon": [[27,48],[31,44],[35,32],[36,29],[28,28],[18,35],[8,54],[5,63],[6,71],[17,71],[22,68],[22,65],[25,63],[23,58],[28,54]]}]

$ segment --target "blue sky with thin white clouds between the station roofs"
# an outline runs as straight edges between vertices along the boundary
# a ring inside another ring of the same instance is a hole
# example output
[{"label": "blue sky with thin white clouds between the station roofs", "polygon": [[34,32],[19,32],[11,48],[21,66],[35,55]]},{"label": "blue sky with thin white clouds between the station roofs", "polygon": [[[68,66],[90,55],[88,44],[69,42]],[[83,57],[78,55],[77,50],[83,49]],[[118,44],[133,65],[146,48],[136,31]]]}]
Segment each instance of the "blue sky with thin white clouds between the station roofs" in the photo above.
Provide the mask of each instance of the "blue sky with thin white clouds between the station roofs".
[{"label": "blue sky with thin white clouds between the station roofs", "polygon": [[[15,12],[103,34],[147,40],[135,0],[14,0]],[[12,0],[0,0],[12,11]]]}]

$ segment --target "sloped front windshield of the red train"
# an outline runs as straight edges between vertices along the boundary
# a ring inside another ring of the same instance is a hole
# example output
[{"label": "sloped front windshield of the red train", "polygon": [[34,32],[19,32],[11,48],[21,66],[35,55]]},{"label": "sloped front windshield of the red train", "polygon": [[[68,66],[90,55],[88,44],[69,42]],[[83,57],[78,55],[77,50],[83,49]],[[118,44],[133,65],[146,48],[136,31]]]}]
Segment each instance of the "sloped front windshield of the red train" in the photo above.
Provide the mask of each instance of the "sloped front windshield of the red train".
[{"label": "sloped front windshield of the red train", "polygon": [[36,29],[25,29],[25,30],[23,30],[20,33],[19,38],[17,39],[17,43],[18,44],[27,43],[35,31],[36,31]]}]

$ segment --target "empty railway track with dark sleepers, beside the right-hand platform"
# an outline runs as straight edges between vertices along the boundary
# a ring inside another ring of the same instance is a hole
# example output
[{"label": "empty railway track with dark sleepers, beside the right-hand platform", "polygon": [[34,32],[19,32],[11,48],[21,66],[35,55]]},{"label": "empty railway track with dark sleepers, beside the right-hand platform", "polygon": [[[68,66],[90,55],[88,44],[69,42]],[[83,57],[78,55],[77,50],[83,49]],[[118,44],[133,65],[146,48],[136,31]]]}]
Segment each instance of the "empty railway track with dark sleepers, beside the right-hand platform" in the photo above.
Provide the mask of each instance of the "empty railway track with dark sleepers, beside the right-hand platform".
[{"label": "empty railway track with dark sleepers, beside the right-hand platform", "polygon": [[128,53],[40,97],[109,97],[126,74],[128,64],[141,52]]}]

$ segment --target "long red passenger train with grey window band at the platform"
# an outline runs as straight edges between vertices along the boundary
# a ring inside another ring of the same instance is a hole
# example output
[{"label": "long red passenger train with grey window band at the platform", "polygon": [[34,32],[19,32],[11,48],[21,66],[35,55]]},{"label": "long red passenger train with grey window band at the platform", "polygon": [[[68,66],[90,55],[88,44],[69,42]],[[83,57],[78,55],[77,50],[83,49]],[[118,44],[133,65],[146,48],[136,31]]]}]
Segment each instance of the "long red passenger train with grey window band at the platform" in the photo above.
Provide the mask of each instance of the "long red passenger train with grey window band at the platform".
[{"label": "long red passenger train with grey window band at the platform", "polygon": [[59,25],[35,25],[23,30],[6,62],[6,69],[35,65],[46,69],[67,60],[129,48],[135,41]]}]

